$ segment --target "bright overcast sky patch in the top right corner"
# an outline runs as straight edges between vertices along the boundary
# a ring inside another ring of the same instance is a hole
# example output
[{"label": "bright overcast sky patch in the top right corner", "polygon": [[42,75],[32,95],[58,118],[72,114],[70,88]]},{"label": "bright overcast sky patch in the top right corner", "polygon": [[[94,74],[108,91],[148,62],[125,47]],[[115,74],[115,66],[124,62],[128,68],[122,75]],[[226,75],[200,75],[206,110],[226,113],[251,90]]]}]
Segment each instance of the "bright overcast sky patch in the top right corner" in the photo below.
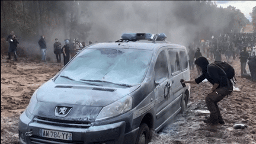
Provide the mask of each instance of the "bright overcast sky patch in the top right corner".
[{"label": "bright overcast sky patch in the top right corner", "polygon": [[256,6],[256,1],[216,1],[217,7],[226,8],[231,5],[236,9],[240,9],[240,11],[245,15],[245,17],[251,21],[250,12],[252,12],[252,8]]}]

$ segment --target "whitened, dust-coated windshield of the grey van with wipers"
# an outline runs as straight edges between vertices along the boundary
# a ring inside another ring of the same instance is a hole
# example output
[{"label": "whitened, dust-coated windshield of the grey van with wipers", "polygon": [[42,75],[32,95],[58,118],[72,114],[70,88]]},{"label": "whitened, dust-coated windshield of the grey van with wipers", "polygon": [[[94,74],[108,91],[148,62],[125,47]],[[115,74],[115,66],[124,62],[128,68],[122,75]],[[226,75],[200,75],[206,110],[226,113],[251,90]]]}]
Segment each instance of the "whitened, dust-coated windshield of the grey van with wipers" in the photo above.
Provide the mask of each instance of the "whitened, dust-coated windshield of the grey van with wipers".
[{"label": "whitened, dust-coated windshield of the grey van with wipers", "polygon": [[55,83],[136,85],[143,81],[151,57],[150,50],[86,49],[63,69]]}]

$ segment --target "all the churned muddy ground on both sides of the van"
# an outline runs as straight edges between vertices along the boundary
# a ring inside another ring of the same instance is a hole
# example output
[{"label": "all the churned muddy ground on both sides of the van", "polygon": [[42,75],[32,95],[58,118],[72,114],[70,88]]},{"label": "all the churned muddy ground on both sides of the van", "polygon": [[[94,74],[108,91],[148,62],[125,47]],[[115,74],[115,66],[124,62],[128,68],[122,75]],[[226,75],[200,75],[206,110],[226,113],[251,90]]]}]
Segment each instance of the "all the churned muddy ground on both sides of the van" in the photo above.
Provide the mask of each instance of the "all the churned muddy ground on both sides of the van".
[{"label": "all the churned muddy ground on both sides of the van", "polygon": [[[179,114],[159,133],[154,132],[150,144],[256,143],[256,83],[241,78],[238,59],[233,60],[232,66],[236,70],[237,91],[219,102],[224,125],[207,126],[203,119],[209,114],[199,112],[207,110],[204,97],[212,85],[209,82],[191,85],[185,113]],[[62,67],[62,63],[40,63],[24,58],[14,62],[1,56],[1,143],[19,143],[18,117],[27,107],[33,92]],[[190,73],[191,79],[198,76],[196,69]],[[233,129],[236,123],[246,124],[247,128]]]}]

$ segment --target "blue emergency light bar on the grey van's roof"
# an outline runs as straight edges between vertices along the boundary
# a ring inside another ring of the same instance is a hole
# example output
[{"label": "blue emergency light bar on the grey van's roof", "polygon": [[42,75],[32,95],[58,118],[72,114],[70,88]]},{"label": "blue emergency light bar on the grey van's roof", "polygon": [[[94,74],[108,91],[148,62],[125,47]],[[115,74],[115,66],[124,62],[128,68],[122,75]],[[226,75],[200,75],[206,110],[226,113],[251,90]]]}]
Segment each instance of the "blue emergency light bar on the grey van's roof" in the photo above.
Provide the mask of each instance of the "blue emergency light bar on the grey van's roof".
[{"label": "blue emergency light bar on the grey van's roof", "polygon": [[139,41],[139,40],[149,40],[152,43],[155,41],[165,41],[167,36],[164,33],[161,34],[151,34],[151,33],[124,33],[121,36],[122,39],[115,41],[119,42],[129,42],[129,41]]}]

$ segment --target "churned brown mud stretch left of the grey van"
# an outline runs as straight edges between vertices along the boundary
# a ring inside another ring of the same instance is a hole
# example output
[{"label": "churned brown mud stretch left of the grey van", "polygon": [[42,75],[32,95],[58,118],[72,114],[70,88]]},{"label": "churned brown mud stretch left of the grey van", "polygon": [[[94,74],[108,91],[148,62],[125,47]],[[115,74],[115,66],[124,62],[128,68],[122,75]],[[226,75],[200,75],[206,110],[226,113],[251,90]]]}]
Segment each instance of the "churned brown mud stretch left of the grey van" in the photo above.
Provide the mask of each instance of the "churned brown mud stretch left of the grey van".
[{"label": "churned brown mud stretch left of the grey van", "polygon": [[1,60],[1,143],[18,142],[18,117],[34,91],[52,78],[61,64]]}]

